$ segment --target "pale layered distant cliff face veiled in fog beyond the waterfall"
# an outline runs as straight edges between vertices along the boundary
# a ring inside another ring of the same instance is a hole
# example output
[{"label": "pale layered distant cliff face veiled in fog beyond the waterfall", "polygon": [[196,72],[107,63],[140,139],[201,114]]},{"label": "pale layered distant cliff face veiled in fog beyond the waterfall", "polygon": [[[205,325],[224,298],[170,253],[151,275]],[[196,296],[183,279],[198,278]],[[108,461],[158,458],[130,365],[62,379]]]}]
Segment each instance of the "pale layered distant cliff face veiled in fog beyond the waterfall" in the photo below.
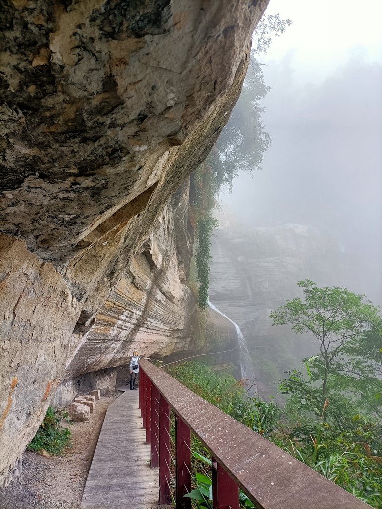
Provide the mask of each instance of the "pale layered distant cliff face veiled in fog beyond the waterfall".
[{"label": "pale layered distant cliff face veiled in fog beyond the waterfall", "polygon": [[[269,359],[281,370],[293,369],[314,351],[309,335],[296,337],[268,317],[300,295],[297,281],[341,284],[338,245],[301,224],[248,230],[231,225],[217,230],[211,253],[210,299],[238,323],[255,363]],[[261,377],[259,372],[259,382]]]}]

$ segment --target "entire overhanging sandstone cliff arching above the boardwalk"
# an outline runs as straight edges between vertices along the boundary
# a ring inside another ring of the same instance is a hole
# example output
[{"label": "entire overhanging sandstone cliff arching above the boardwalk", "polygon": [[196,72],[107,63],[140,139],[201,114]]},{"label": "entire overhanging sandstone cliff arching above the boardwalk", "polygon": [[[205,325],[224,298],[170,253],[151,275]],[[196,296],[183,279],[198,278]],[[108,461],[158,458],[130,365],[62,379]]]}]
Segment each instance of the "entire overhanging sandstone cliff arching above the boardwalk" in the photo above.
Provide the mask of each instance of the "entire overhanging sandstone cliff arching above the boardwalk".
[{"label": "entire overhanging sandstone cliff arching above the boardwalk", "polygon": [[266,4],[2,2],[0,485],[58,387],[133,347],[187,348],[179,186],[228,121]]}]

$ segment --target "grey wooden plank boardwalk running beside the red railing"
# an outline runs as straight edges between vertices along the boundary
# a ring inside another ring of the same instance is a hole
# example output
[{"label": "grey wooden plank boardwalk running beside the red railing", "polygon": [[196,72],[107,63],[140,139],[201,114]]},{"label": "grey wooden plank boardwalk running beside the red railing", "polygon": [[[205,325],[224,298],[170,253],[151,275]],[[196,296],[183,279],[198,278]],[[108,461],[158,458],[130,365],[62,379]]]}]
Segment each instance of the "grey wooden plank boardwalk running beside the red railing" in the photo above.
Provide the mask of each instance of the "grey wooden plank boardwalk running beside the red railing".
[{"label": "grey wooden plank boardwalk running beside the red railing", "polygon": [[142,428],[139,391],[127,390],[107,409],[80,509],[156,509],[158,469]]}]

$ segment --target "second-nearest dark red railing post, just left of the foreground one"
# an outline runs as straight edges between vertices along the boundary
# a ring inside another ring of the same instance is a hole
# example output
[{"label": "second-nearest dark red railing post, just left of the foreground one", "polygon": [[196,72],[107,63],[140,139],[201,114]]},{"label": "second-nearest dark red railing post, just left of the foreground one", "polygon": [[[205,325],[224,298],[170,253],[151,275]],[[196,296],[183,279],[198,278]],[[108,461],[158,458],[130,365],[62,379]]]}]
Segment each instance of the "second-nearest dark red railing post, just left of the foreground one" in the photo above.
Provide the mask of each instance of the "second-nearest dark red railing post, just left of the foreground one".
[{"label": "second-nearest dark red railing post, just left of the foreground one", "polygon": [[191,491],[191,457],[189,429],[175,416],[175,507],[191,509],[191,499],[183,495]]}]

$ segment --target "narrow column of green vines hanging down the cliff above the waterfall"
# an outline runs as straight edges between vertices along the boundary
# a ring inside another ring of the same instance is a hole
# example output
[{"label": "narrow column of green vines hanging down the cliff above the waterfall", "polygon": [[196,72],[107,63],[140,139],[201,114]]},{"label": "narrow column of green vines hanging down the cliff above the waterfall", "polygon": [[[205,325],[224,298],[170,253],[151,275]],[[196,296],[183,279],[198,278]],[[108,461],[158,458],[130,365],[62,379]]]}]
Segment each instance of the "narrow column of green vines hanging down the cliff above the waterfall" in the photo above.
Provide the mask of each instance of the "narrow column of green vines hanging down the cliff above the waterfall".
[{"label": "narrow column of green vines hanging down the cliff above the waterfall", "polygon": [[211,234],[217,220],[210,214],[198,220],[198,247],[196,266],[199,281],[199,307],[205,309],[208,302],[209,262],[211,260]]}]

